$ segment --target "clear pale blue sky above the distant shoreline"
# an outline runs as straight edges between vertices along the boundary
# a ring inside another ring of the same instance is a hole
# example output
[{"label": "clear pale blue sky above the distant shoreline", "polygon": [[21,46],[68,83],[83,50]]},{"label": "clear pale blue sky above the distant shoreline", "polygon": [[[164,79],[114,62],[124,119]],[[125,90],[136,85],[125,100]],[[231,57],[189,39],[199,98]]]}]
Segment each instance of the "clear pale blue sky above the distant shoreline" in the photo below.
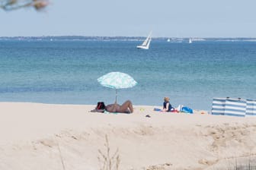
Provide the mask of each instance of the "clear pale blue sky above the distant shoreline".
[{"label": "clear pale blue sky above the distant shoreline", "polygon": [[255,0],[50,0],[0,10],[0,36],[256,37]]}]

